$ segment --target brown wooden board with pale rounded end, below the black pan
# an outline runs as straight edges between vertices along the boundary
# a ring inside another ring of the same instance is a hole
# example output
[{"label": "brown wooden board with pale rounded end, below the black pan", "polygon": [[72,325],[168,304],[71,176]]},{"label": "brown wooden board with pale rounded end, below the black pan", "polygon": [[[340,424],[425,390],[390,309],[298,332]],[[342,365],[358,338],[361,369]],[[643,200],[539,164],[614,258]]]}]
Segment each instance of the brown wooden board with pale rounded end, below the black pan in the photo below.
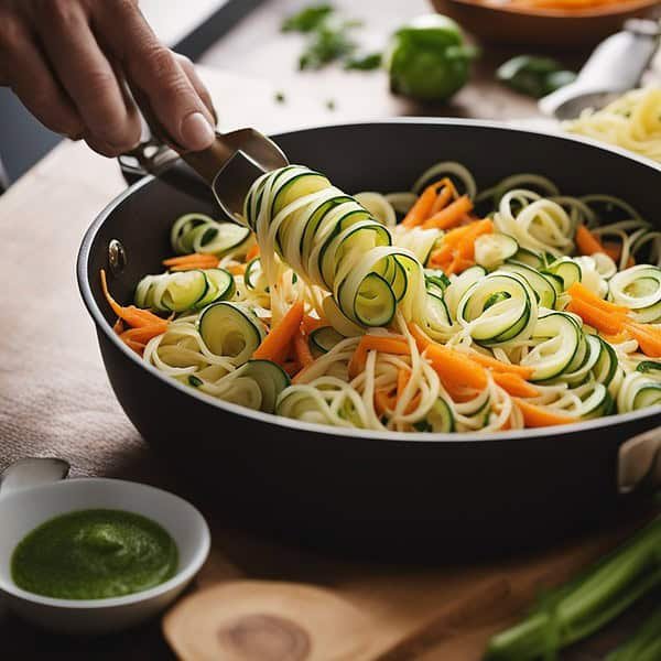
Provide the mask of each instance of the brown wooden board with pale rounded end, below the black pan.
[{"label": "brown wooden board with pale rounded end, below the black pan", "polygon": [[256,566],[235,537],[243,568],[217,535],[195,592],[165,615],[163,629],[184,661],[478,661],[543,589],[636,527],[628,521],[525,559],[437,568],[324,560],[263,541]]}]

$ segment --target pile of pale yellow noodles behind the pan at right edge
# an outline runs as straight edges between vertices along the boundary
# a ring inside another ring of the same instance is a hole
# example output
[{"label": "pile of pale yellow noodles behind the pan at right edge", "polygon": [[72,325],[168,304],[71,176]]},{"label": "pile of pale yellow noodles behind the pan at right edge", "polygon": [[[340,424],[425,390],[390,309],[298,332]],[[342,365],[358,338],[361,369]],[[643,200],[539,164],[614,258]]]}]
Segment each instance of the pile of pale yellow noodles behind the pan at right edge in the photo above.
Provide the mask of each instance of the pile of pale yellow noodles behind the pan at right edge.
[{"label": "pile of pale yellow noodles behind the pan at right edge", "polygon": [[635,89],[602,110],[584,110],[563,128],[661,161],[661,89]]}]

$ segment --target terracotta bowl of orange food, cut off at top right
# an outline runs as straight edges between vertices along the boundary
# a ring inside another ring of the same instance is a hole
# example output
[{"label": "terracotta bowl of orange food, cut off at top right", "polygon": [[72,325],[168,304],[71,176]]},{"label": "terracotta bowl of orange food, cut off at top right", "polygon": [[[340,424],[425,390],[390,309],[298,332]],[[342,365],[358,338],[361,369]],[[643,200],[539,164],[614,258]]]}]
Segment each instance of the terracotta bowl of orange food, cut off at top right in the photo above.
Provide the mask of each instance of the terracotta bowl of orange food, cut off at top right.
[{"label": "terracotta bowl of orange food, cut off at top right", "polygon": [[432,0],[440,13],[488,42],[538,46],[588,46],[618,32],[632,17],[647,17],[659,0],[629,0],[571,14],[486,4],[480,0]]}]

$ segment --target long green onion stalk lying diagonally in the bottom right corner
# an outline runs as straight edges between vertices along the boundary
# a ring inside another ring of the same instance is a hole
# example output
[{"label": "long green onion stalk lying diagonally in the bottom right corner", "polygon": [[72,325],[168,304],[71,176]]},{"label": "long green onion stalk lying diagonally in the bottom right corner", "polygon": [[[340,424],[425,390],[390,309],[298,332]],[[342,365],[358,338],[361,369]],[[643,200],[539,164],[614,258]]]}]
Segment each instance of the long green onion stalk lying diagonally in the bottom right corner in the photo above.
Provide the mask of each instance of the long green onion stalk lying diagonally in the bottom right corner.
[{"label": "long green onion stalk lying diagonally in the bottom right corner", "polygon": [[587,572],[542,595],[523,621],[490,640],[485,659],[555,659],[562,648],[590,636],[660,585],[658,518]]}]

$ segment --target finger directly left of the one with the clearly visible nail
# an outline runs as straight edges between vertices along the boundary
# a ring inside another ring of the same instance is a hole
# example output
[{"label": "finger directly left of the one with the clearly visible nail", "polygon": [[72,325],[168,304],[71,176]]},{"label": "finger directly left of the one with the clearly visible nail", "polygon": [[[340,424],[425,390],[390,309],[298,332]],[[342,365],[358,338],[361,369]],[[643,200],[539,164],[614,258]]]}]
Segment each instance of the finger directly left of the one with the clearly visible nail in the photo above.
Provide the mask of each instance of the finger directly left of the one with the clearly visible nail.
[{"label": "finger directly left of the one with the clearly visible nail", "polygon": [[57,77],[74,100],[93,148],[113,156],[133,148],[141,126],[77,2],[42,4],[37,30]]}]

